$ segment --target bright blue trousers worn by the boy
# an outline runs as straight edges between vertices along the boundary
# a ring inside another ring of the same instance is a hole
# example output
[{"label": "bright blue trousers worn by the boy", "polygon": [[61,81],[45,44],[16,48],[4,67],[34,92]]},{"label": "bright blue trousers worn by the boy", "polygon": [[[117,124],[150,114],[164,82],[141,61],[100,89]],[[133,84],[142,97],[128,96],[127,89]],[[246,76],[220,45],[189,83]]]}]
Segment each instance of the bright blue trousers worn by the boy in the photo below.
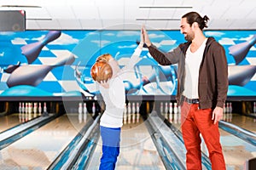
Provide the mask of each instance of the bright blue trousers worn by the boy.
[{"label": "bright blue trousers worn by the boy", "polygon": [[102,158],[100,170],[113,170],[119,156],[121,128],[109,128],[101,126]]}]

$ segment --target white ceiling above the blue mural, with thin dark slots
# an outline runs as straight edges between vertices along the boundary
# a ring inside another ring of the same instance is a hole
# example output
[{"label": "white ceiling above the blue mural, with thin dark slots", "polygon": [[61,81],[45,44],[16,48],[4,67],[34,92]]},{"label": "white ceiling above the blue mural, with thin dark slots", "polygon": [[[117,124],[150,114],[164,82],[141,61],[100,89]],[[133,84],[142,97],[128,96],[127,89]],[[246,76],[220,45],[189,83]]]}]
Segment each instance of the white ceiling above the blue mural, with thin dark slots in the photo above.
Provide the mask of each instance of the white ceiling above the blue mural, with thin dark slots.
[{"label": "white ceiling above the blue mural, with thin dark slots", "polygon": [[178,30],[183,14],[209,17],[209,30],[256,30],[255,0],[0,0],[25,10],[26,30]]}]

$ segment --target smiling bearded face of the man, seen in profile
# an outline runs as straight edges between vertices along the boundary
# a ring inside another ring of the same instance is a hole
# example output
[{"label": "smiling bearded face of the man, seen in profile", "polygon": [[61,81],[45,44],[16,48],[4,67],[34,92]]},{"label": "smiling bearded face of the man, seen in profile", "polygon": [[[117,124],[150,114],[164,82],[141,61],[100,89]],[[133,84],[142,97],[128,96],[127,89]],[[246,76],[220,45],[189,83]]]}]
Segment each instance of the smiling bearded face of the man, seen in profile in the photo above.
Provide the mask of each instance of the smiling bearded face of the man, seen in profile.
[{"label": "smiling bearded face of the man, seen in profile", "polygon": [[187,41],[192,41],[195,38],[195,32],[193,31],[192,27],[189,26],[187,18],[182,18],[180,32],[184,35],[184,38]]}]

